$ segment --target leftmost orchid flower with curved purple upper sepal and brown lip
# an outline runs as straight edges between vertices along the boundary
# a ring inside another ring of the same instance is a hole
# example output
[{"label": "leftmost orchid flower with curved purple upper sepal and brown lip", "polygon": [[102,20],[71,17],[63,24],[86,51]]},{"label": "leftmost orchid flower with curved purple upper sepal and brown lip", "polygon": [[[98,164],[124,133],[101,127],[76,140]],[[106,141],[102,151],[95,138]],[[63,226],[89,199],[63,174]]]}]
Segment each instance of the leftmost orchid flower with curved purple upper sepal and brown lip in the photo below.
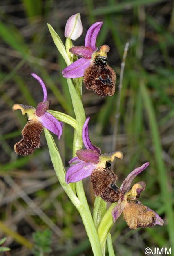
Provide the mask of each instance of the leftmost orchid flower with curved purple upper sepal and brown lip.
[{"label": "leftmost orchid flower with curved purple upper sepal and brown lip", "polygon": [[47,128],[58,136],[62,135],[63,123],[58,121],[53,115],[47,112],[50,100],[47,100],[47,89],[42,79],[36,74],[31,74],[42,86],[44,92],[43,102],[38,103],[37,108],[32,106],[14,104],[13,111],[20,109],[22,114],[28,115],[28,122],[22,130],[23,139],[14,145],[14,150],[17,154],[22,156],[33,153],[34,149],[40,147],[40,134],[43,128]]}]

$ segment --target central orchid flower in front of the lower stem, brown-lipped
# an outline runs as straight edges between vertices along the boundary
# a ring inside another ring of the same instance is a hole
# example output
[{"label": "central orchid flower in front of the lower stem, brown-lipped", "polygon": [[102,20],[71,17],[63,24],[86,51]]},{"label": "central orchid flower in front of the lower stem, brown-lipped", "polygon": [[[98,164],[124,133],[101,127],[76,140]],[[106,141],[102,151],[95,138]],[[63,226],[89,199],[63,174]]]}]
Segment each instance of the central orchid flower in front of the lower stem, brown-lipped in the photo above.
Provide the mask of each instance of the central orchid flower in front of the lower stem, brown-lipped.
[{"label": "central orchid flower in front of the lower stem, brown-lipped", "polygon": [[116,202],[118,193],[115,182],[117,176],[111,171],[109,161],[114,158],[123,158],[123,153],[114,151],[101,154],[100,148],[93,145],[89,139],[88,117],[83,125],[82,138],[86,149],[76,152],[76,157],[69,161],[70,168],[66,173],[66,182],[77,182],[91,176],[95,196],[101,196],[107,202]]}]

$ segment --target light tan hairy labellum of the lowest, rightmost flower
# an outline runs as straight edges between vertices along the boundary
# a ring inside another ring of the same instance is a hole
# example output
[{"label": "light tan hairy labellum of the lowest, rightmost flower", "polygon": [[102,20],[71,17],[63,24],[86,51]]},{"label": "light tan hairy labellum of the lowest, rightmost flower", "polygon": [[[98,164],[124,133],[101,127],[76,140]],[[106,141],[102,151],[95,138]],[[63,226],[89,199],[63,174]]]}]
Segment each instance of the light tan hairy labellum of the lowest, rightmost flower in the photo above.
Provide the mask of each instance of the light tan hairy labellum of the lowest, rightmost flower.
[{"label": "light tan hairy labellum of the lowest, rightmost flower", "polygon": [[131,229],[153,227],[156,219],[153,211],[147,211],[146,206],[135,202],[127,204],[123,218]]}]

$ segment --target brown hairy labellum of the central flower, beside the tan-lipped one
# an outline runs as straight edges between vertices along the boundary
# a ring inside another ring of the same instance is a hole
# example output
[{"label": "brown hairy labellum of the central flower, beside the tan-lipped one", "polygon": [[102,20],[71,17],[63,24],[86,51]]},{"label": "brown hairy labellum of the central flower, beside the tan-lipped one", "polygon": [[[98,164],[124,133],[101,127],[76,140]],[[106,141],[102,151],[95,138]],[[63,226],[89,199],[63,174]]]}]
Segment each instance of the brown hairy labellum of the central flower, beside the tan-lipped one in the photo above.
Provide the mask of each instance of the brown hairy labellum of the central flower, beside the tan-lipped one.
[{"label": "brown hairy labellum of the central flower, beside the tan-lipped one", "polygon": [[101,197],[106,202],[117,202],[121,191],[116,186],[117,176],[110,169],[110,164],[106,162],[106,168],[98,167],[91,174],[91,182],[94,196]]}]

